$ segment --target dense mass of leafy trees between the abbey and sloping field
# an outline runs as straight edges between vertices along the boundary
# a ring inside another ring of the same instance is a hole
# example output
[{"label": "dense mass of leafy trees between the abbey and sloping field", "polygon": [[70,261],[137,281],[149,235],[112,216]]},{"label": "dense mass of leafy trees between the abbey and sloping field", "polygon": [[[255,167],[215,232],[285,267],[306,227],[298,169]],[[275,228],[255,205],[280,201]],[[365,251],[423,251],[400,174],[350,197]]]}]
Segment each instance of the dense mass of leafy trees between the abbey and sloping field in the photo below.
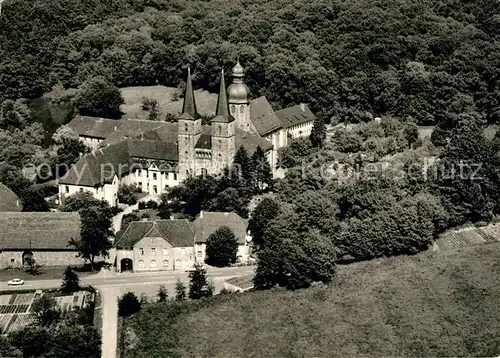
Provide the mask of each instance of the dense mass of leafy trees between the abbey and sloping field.
[{"label": "dense mass of leafy trees between the abbey and sloping field", "polygon": [[414,254],[450,227],[498,215],[498,135],[488,139],[484,122],[460,119],[442,148],[418,139],[414,123],[388,118],[338,128],[320,150],[307,140],[284,150],[292,165],[277,201],[263,200],[249,221],[256,287],[327,281],[306,254],[318,242],[332,262]]}]

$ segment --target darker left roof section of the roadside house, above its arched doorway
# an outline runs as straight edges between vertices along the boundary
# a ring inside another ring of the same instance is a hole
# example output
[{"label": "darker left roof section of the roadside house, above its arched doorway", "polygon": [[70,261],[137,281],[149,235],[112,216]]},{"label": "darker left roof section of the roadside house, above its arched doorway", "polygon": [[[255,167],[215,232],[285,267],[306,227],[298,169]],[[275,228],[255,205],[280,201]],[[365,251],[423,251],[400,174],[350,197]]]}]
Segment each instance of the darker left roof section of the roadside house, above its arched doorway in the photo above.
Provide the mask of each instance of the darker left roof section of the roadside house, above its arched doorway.
[{"label": "darker left roof section of the roadside house, above its arched doorway", "polygon": [[161,237],[174,247],[194,244],[194,231],[188,220],[133,221],[115,240],[117,249],[131,248],[144,237]]}]

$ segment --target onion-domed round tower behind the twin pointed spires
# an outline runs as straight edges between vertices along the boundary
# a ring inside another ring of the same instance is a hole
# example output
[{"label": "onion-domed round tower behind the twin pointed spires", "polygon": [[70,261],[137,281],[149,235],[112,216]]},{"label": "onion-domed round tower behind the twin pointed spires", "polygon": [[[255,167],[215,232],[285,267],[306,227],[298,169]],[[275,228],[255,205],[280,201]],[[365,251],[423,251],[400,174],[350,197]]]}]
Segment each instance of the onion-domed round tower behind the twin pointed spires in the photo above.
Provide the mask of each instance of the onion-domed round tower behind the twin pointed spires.
[{"label": "onion-domed round tower behind the twin pointed spires", "polygon": [[228,102],[230,114],[236,121],[236,126],[246,132],[255,132],[253,123],[250,121],[250,100],[247,85],[243,82],[245,71],[240,61],[233,67],[233,83],[228,87]]}]

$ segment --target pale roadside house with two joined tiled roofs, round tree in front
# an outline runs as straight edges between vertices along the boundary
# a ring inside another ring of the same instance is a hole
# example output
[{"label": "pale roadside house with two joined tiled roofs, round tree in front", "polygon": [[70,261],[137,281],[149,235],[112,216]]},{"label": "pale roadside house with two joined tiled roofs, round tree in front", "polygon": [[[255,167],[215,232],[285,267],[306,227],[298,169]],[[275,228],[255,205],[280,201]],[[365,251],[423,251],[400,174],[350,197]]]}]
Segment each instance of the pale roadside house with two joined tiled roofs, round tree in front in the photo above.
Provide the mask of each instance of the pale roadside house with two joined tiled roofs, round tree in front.
[{"label": "pale roadside house with two joined tiled roofs, round tree in front", "polygon": [[133,221],[120,231],[113,244],[118,272],[183,270],[205,261],[206,242],[217,229],[226,226],[238,241],[237,260],[248,261],[251,237],[247,220],[236,213],[202,211],[186,219]]}]

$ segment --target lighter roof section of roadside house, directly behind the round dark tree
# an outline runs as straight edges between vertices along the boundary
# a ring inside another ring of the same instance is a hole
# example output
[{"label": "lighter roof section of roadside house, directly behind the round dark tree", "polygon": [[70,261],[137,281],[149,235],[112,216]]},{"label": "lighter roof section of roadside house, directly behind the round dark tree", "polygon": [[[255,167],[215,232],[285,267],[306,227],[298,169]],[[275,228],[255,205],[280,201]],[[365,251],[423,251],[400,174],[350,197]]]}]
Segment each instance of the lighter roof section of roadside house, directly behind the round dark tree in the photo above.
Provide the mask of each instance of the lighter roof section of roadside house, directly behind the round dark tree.
[{"label": "lighter roof section of roadside house, directly behind the round dark tree", "polygon": [[193,226],[197,243],[206,242],[208,237],[222,226],[233,231],[240,245],[245,243],[247,221],[236,213],[202,211],[193,221]]}]

